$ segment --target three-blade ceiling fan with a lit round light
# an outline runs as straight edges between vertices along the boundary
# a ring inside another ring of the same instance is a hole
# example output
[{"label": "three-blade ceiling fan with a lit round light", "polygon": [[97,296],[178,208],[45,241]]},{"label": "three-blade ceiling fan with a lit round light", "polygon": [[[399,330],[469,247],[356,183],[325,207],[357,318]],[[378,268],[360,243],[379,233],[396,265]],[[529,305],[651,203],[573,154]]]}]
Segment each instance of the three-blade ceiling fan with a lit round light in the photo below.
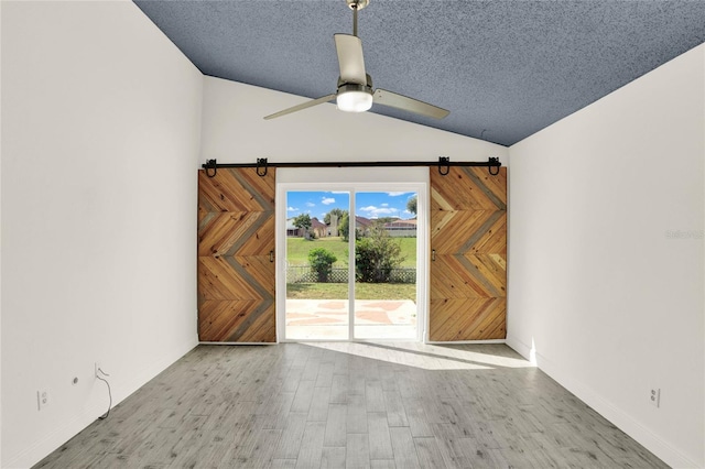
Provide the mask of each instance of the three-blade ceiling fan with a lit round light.
[{"label": "three-blade ceiling fan with a lit round light", "polygon": [[335,48],[338,53],[338,65],[340,66],[337,91],[267,116],[264,119],[275,119],[334,99],[338,109],[347,112],[365,112],[375,102],[436,119],[443,119],[451,113],[437,106],[386,89],[377,88],[372,91],[372,78],[365,72],[362,41],[357,36],[357,12],[367,7],[370,0],[345,1],[352,10],[352,34],[335,34],[333,36]]}]

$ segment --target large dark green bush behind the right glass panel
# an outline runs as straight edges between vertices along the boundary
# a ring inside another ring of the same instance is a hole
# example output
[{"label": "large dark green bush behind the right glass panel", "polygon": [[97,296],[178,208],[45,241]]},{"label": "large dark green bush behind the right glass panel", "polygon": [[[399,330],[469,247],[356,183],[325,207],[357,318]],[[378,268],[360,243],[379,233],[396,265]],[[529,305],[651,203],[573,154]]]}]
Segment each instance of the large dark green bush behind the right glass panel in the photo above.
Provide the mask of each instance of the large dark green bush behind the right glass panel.
[{"label": "large dark green bush behind the right glass panel", "polygon": [[355,242],[355,270],[358,282],[389,282],[392,269],[404,262],[400,243],[379,225],[370,227],[366,238]]}]

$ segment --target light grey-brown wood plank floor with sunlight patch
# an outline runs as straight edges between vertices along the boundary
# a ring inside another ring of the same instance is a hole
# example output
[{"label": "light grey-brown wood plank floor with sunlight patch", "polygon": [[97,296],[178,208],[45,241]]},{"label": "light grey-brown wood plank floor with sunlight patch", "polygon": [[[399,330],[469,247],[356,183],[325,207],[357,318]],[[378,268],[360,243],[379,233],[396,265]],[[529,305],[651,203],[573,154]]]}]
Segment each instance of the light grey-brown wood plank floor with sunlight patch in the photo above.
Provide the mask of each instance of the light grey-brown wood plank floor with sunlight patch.
[{"label": "light grey-brown wood plank floor with sunlight patch", "polygon": [[37,468],[661,468],[503,345],[199,346]]}]

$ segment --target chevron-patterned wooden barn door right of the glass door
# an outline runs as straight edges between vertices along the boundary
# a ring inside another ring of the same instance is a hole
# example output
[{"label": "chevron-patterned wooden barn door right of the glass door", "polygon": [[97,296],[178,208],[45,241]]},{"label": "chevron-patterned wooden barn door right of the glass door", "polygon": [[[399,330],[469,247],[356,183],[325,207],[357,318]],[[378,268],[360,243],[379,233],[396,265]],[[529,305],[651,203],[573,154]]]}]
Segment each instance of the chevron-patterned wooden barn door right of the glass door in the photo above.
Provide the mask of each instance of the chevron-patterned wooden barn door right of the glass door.
[{"label": "chevron-patterned wooden barn door right of the glass door", "polygon": [[432,341],[503,339],[507,168],[431,168]]}]

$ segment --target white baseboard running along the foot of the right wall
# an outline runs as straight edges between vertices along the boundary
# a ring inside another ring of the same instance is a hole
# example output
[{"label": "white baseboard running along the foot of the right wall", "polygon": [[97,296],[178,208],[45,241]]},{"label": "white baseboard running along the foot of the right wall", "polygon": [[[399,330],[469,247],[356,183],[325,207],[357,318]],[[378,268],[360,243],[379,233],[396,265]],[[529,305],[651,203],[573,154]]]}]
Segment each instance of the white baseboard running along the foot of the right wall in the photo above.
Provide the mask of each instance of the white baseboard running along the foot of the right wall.
[{"label": "white baseboard running along the foot of the right wall", "polygon": [[637,422],[631,415],[626,414],[622,410],[603,399],[590,386],[573,377],[568,369],[545,358],[541,353],[536,353],[530,346],[523,343],[517,337],[508,335],[507,345],[527,360],[531,361],[532,358],[534,358],[535,364],[541,371],[575,394],[581,401],[589,405],[598,414],[607,418],[669,466],[673,468],[699,467],[695,461]]}]

